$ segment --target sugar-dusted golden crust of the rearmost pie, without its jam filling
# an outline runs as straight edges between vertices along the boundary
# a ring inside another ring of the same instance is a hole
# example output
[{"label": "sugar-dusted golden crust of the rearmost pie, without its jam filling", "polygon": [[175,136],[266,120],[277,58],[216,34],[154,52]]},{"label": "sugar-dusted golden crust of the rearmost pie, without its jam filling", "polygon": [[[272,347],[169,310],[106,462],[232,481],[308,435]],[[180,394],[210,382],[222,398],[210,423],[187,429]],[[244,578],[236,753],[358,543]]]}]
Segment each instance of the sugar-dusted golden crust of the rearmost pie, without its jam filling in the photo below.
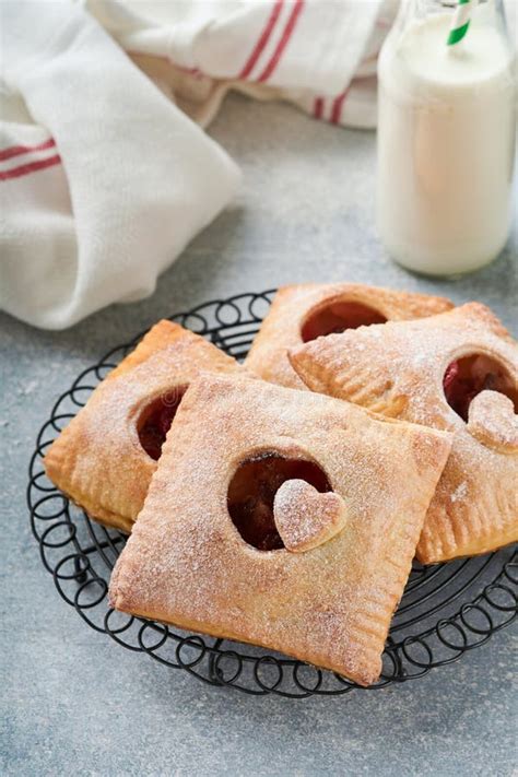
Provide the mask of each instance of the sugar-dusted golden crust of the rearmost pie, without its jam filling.
[{"label": "sugar-dusted golden crust of the rearmost pie, without its jam filling", "polygon": [[245,366],[263,380],[305,389],[287,358],[287,350],[303,344],[302,327],[314,311],[334,303],[351,302],[377,310],[387,320],[434,316],[452,308],[444,297],[411,294],[358,283],[302,283],[283,286],[254,340]]}]

